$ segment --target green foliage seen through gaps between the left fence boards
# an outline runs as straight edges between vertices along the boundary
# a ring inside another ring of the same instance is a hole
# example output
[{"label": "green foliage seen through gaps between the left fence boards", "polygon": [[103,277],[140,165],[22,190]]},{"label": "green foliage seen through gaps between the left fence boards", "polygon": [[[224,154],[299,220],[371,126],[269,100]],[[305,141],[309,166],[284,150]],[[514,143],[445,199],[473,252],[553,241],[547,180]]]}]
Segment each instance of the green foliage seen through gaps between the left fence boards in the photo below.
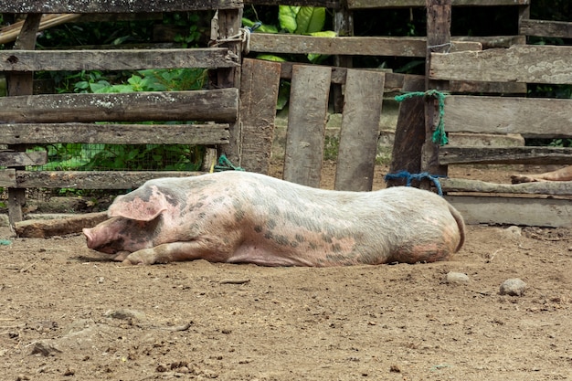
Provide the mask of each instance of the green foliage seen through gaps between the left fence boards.
[{"label": "green foliage seen through gaps between the left fence boards", "polygon": [[[146,69],[132,73],[131,77],[123,81],[118,81],[117,78],[106,76],[101,71],[82,71],[70,76],[70,79],[80,79],[73,85],[74,91],[80,93],[199,90],[205,84],[207,70]],[[48,151],[48,164],[43,167],[45,170],[196,171],[200,168],[204,155],[204,147],[178,144],[57,143],[34,149]]]}]

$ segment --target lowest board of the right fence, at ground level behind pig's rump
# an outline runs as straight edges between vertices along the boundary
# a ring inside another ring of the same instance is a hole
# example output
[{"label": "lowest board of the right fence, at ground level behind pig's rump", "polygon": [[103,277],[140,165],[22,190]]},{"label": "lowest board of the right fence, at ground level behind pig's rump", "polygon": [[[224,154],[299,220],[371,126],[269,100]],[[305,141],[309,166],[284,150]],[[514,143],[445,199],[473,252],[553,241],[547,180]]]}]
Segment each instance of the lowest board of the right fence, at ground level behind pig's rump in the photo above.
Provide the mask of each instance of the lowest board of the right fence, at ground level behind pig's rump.
[{"label": "lowest board of the right fence, at ground level behind pig's rump", "polygon": [[570,227],[572,203],[554,198],[445,196],[466,224]]}]

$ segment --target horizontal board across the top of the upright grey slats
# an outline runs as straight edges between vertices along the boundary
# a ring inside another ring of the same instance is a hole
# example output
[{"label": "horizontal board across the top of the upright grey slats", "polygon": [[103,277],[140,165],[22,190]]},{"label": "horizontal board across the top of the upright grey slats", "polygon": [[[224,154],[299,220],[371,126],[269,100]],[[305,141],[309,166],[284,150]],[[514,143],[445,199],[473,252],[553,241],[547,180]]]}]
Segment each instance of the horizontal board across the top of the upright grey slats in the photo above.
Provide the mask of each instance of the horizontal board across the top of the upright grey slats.
[{"label": "horizontal board across the top of the upright grey slats", "polygon": [[[452,50],[481,50],[479,42],[459,41]],[[250,51],[352,56],[425,57],[425,37],[313,37],[253,33]]]}]

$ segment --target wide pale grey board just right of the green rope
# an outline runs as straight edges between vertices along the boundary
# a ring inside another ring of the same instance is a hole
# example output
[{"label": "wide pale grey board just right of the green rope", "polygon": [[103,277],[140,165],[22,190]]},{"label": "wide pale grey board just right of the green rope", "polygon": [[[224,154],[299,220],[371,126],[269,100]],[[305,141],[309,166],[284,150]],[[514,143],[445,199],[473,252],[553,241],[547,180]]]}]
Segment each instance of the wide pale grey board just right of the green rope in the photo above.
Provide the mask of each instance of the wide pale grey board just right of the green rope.
[{"label": "wide pale grey board just right of the green rope", "polygon": [[448,132],[571,137],[572,100],[452,95],[445,98],[444,121]]}]

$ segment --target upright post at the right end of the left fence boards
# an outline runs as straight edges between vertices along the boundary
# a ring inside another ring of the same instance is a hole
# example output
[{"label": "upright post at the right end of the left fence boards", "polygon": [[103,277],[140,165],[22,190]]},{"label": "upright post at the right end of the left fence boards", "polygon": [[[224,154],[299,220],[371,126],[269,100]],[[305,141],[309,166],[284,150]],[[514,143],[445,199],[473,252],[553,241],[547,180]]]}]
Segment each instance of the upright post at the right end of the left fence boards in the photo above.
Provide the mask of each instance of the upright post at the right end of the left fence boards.
[{"label": "upright post at the right end of the left fence boards", "polygon": [[[217,18],[213,19],[213,23],[217,23],[217,39],[224,40],[230,37],[236,37],[242,25],[242,8],[239,9],[219,9],[217,11]],[[211,28],[212,30],[212,28]],[[212,36],[211,36],[212,37]],[[239,41],[232,41],[222,43],[220,47],[228,47],[228,49],[238,57],[238,62],[241,62],[242,56],[242,43]],[[220,88],[239,88],[240,84],[240,67],[229,69],[217,69],[217,83],[216,86]],[[240,113],[238,113],[237,121],[230,123],[230,139],[229,143],[224,147],[218,147],[219,153],[225,153],[228,160],[237,166],[241,165],[240,143],[241,138],[241,124]]]}]

